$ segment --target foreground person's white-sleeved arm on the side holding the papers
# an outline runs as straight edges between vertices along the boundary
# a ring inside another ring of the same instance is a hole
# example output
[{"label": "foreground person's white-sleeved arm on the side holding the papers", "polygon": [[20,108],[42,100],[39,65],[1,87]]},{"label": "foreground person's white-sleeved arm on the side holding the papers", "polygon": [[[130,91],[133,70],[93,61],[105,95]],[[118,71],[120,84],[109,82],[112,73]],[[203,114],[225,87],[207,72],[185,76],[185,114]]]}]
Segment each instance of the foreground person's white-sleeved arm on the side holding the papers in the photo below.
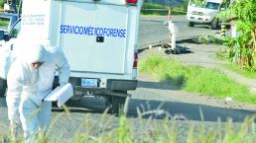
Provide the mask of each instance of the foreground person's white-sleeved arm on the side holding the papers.
[{"label": "foreground person's white-sleeved arm on the side holding the papers", "polygon": [[64,52],[61,49],[59,49],[57,53],[57,71],[59,73],[59,83],[62,86],[68,82],[70,68],[64,56]]}]

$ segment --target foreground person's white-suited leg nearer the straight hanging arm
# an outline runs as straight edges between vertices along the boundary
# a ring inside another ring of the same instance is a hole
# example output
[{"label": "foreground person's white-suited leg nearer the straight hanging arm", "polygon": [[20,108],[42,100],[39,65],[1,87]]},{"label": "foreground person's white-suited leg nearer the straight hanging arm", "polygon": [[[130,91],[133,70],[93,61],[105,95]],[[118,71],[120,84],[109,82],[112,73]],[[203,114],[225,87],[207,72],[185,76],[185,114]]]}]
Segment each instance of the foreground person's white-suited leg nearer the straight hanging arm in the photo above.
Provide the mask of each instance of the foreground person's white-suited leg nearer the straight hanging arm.
[{"label": "foreground person's white-suited leg nearer the straight hanging arm", "polygon": [[33,142],[33,138],[39,132],[40,128],[38,117],[39,107],[32,100],[25,98],[21,100],[19,110],[25,142]]}]

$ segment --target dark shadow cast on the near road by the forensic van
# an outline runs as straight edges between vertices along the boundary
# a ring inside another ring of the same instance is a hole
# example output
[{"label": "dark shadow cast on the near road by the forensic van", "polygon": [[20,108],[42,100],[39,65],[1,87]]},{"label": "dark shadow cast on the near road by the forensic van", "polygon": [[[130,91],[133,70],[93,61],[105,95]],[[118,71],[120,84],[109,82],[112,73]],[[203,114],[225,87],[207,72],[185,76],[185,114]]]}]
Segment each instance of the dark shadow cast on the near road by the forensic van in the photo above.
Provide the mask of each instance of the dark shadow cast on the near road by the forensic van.
[{"label": "dark shadow cast on the near road by the forensic van", "polygon": [[[2,100],[2,99],[1,99]],[[105,110],[104,98],[85,97],[78,102],[69,101],[67,107],[70,112],[92,112],[102,113]],[[64,111],[59,107],[53,107],[53,111]],[[234,122],[242,122],[248,116],[255,115],[254,110],[231,109],[224,107],[210,107],[189,103],[149,101],[140,99],[129,99],[127,116],[136,118],[172,118],[178,120],[197,120],[197,121],[227,121],[232,119]],[[254,119],[256,122],[256,118]]]}]

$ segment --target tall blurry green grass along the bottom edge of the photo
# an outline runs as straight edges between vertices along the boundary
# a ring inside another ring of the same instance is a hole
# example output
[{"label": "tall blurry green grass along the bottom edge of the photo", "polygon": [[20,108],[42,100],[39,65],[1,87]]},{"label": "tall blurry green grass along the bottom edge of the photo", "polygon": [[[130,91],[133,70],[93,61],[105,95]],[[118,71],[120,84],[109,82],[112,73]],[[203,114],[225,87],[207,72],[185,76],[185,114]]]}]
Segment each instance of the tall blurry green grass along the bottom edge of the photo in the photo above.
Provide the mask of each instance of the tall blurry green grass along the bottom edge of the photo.
[{"label": "tall blurry green grass along the bottom edge of the photo", "polygon": [[[114,122],[113,118],[105,118],[104,115],[93,122],[86,114],[70,141],[64,140],[60,132],[60,136],[55,138],[49,138],[46,134],[39,135],[34,143],[255,143],[256,141],[255,116],[247,117],[238,125],[231,120],[226,123],[218,120],[207,125],[141,117],[136,118],[138,121],[134,123],[134,119],[130,120],[124,115],[120,116],[119,122]],[[68,123],[68,120],[66,121]],[[117,126],[111,127],[111,123]],[[144,128],[135,129],[138,126]],[[7,138],[8,136],[0,136],[0,143],[23,142],[22,140],[15,142]]]}]

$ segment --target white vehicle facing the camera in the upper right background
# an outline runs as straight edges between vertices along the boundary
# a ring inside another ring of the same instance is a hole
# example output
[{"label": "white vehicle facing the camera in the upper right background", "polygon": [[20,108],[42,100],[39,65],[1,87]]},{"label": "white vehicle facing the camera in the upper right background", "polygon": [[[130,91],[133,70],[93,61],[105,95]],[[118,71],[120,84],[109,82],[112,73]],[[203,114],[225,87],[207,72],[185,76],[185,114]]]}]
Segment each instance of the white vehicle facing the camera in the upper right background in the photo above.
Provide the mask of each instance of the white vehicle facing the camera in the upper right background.
[{"label": "white vehicle facing the camera in the upper right background", "polygon": [[226,10],[227,5],[226,3],[222,3],[222,0],[206,0],[200,7],[190,0],[187,12],[189,27],[197,24],[206,24],[212,30],[217,29],[221,20],[216,18],[216,16],[220,11]]}]

